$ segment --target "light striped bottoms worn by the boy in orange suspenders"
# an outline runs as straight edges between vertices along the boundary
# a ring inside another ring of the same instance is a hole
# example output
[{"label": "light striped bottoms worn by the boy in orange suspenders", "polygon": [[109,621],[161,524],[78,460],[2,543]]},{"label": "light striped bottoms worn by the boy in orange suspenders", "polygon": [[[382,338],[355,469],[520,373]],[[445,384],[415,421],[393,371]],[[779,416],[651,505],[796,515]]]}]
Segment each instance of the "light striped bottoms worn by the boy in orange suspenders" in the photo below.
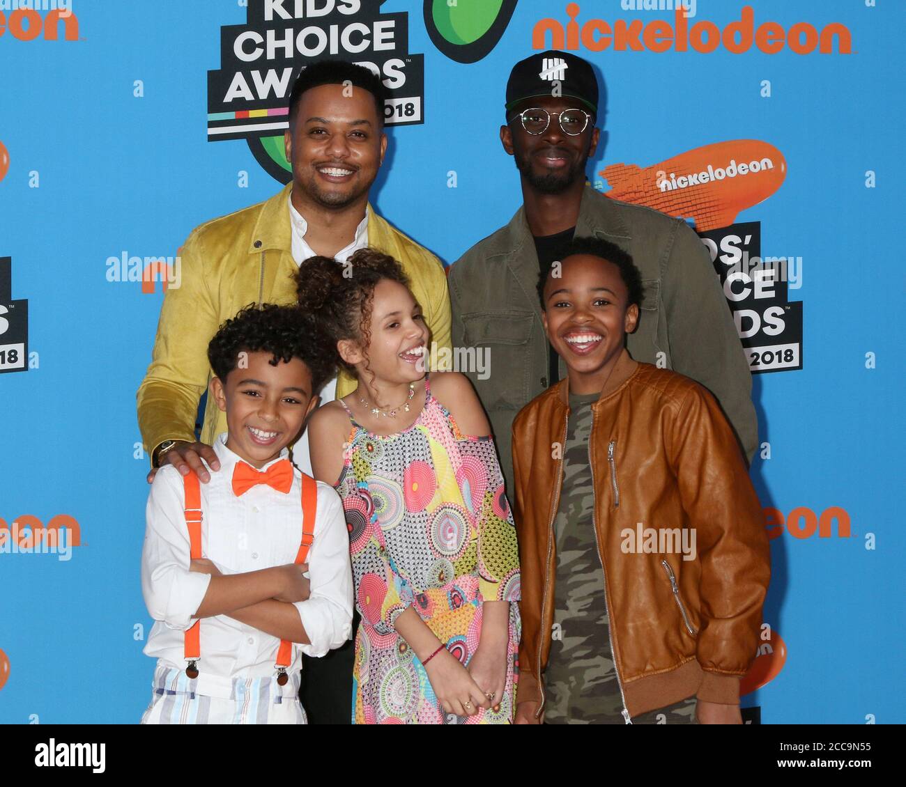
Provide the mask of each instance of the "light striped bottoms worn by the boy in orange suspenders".
[{"label": "light striped bottoms worn by the boy in orange suspenders", "polygon": [[[151,684],[151,702],[143,725],[305,725],[299,702],[300,673],[289,674],[286,686],[276,677],[236,677],[230,696],[198,694],[198,678],[185,670],[158,666]],[[287,696],[292,692],[291,696]]]}]

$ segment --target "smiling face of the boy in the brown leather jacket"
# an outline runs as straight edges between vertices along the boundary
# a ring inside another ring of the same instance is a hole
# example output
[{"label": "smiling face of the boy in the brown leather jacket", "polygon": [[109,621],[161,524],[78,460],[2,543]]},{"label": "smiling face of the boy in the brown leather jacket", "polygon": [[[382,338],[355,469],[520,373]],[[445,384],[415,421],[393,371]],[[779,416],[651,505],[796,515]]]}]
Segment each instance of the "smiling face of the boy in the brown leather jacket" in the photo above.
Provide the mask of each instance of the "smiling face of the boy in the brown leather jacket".
[{"label": "smiling face of the boy in the brown leather jacket", "polygon": [[545,283],[547,338],[566,364],[570,391],[595,393],[620,357],[625,334],[635,330],[639,307],[627,305],[620,268],[601,257],[566,257],[560,273]]}]

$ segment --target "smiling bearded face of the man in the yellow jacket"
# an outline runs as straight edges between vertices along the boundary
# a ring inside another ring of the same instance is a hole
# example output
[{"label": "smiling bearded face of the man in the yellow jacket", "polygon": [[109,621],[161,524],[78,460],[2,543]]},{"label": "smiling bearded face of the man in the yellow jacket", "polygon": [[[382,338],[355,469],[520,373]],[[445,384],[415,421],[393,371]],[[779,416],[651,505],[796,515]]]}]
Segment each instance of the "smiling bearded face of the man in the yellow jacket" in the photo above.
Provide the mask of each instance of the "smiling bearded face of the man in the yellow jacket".
[{"label": "smiling bearded face of the man in the yellow jacket", "polygon": [[387,150],[374,97],[353,87],[319,85],[305,91],[294,127],[286,130],[293,193],[302,203],[342,208],[368,200]]}]

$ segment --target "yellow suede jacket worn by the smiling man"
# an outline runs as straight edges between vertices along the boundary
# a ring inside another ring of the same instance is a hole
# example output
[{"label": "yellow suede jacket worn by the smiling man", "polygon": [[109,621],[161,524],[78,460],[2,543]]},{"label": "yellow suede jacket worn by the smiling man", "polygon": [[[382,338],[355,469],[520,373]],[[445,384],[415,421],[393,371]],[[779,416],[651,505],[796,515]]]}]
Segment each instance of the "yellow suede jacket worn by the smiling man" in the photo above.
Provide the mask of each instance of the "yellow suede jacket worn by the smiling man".
[{"label": "yellow suede jacket worn by the smiling man", "polygon": [[[152,454],[164,440],[194,441],[198,401],[213,375],[207,344],[221,323],[250,303],[292,303],[289,197],[292,184],[265,202],[198,226],[180,250],[179,267],[160,310],[151,364],[138,392],[139,427]],[[368,242],[400,262],[421,304],[432,341],[449,346],[447,279],[434,254],[390,226],[368,206]],[[337,396],[355,389],[345,371]],[[226,431],[226,415],[207,399],[201,441]]]}]

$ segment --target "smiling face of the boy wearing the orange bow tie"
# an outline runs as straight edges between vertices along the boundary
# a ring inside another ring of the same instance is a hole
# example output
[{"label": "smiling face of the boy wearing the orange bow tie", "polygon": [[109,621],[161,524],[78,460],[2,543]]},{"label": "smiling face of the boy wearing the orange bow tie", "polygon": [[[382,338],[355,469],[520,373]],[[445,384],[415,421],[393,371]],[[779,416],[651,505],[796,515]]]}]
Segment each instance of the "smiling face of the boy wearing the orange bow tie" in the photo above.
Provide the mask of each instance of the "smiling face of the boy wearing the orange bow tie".
[{"label": "smiling face of the boy wearing the orange bow tie", "polygon": [[273,366],[269,352],[249,352],[245,358],[246,368],[230,371],[226,384],[211,380],[211,394],[226,412],[226,447],[260,468],[298,437],[318,398],[302,360]]}]

